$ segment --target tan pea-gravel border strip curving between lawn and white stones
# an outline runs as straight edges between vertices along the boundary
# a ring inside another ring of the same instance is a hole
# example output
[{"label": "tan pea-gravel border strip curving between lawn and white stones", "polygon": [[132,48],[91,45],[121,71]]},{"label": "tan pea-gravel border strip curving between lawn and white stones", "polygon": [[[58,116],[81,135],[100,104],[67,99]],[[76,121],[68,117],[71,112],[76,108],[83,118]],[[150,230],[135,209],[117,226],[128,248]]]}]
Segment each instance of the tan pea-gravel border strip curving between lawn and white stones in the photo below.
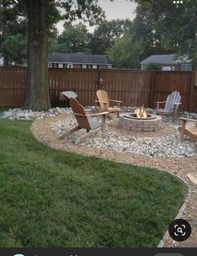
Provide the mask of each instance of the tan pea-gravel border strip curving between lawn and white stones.
[{"label": "tan pea-gravel border strip curving between lawn and white stones", "polygon": [[[159,170],[171,173],[179,179],[182,179],[184,184],[188,187],[188,195],[186,196],[176,217],[182,217],[189,221],[192,227],[191,237],[197,233],[197,185],[193,184],[187,177],[187,173],[197,173],[197,156],[150,158],[135,153],[110,152],[96,147],[75,146],[74,144],[70,144],[64,140],[60,141],[57,134],[52,131],[51,122],[62,119],[65,119],[65,114],[45,118],[44,120],[35,120],[32,123],[30,130],[38,141],[54,149],[75,152],[86,156],[101,157],[120,163],[131,163],[149,168],[159,168]],[[171,237],[169,237],[168,231],[166,231],[162,240],[158,243],[158,247],[178,248],[182,243],[175,242]]]}]

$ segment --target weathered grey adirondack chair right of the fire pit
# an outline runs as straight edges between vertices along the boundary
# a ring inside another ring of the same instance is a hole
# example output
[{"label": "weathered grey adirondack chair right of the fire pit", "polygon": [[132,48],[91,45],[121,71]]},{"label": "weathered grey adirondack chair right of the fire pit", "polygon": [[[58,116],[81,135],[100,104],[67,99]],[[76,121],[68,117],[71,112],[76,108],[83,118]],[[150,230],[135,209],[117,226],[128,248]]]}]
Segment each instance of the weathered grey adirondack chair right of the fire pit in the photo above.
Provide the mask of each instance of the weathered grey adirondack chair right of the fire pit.
[{"label": "weathered grey adirondack chair right of the fire pit", "polygon": [[[180,93],[174,91],[171,94],[168,94],[166,101],[158,101],[156,112],[158,115],[173,115],[174,116],[178,113],[179,105],[182,104],[180,102],[181,96]],[[159,104],[165,103],[164,109],[159,109]]]}]

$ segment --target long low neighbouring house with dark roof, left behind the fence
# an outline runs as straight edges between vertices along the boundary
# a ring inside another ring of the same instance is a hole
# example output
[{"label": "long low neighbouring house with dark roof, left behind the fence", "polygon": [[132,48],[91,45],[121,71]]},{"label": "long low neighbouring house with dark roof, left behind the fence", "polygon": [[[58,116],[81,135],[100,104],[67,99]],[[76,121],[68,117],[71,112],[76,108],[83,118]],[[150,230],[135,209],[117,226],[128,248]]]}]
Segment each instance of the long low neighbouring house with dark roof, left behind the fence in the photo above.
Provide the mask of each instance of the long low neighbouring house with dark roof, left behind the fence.
[{"label": "long low neighbouring house with dark roof, left behind the fence", "polygon": [[49,67],[111,68],[111,61],[104,55],[77,53],[54,53],[49,56]]}]

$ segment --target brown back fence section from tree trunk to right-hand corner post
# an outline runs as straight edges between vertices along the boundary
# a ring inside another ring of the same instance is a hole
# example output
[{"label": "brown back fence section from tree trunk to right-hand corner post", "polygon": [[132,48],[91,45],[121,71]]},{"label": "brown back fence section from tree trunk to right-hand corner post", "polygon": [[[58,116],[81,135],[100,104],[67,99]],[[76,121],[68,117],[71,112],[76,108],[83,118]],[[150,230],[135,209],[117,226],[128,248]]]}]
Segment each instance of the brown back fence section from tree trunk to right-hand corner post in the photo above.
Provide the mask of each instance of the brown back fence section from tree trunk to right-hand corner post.
[{"label": "brown back fence section from tree trunk to right-hand corner post", "polygon": [[[103,86],[99,85],[100,78]],[[94,105],[96,90],[103,88],[110,99],[120,99],[124,105],[148,105],[151,72],[122,70],[49,70],[51,101],[59,104],[60,92],[73,90],[82,105]]]}]

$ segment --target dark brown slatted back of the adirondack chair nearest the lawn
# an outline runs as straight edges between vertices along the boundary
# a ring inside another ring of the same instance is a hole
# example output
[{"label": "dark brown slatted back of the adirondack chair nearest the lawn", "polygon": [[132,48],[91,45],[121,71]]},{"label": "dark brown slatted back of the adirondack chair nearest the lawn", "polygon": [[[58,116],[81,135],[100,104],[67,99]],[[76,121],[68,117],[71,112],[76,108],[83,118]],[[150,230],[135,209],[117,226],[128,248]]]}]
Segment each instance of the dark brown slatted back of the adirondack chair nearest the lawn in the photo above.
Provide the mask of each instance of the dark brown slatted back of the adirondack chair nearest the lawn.
[{"label": "dark brown slatted back of the adirondack chair nearest the lawn", "polygon": [[89,123],[89,120],[86,116],[86,112],[81,104],[76,99],[70,99],[70,107],[72,111],[75,114],[80,114],[80,115],[75,115],[75,119],[80,126],[80,128],[84,128],[86,130],[91,130],[91,125]]}]

